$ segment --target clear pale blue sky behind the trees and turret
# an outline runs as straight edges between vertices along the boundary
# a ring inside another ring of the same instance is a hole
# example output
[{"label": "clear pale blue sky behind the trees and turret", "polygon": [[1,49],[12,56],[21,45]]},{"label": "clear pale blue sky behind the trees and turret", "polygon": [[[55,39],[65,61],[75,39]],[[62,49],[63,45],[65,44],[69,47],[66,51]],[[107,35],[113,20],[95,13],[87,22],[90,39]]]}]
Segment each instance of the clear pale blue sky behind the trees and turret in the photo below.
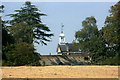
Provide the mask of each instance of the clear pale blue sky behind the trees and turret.
[{"label": "clear pale blue sky behind the trees and turret", "polygon": [[[56,49],[61,32],[61,24],[64,24],[63,33],[65,34],[66,43],[71,43],[75,37],[75,32],[82,29],[82,21],[86,17],[94,16],[97,20],[98,29],[104,26],[106,16],[109,16],[110,6],[116,2],[32,2],[47,16],[41,17],[41,20],[50,29],[54,36],[47,46],[35,44],[36,51],[41,55],[56,55]],[[14,10],[24,6],[23,2],[3,2],[4,8],[3,19],[11,19],[5,15],[14,13]]]}]

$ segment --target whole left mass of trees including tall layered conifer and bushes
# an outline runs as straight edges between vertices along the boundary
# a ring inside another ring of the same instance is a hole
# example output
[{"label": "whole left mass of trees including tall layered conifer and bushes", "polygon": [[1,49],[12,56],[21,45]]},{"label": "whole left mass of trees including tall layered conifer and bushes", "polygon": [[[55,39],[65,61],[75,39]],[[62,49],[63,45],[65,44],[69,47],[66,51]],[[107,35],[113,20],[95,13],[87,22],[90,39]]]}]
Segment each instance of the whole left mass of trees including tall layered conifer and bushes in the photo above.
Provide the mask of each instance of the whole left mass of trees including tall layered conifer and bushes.
[{"label": "whole left mass of trees including tall layered conifer and bushes", "polygon": [[[40,13],[35,5],[27,1],[20,10],[15,10],[15,14],[9,14],[12,20],[3,24],[3,66],[39,66],[40,55],[35,52],[33,43],[46,44],[53,34],[50,29],[42,24]],[[39,42],[38,42],[39,40]]]}]

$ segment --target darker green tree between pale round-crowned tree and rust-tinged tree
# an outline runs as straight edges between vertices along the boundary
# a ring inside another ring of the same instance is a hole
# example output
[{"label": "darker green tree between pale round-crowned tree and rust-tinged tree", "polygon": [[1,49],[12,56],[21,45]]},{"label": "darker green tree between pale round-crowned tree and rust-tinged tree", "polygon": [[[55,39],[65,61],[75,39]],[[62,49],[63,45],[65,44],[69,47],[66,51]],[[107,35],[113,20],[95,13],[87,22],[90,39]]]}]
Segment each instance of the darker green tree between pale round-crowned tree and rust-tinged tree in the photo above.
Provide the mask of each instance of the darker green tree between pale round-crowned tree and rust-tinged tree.
[{"label": "darker green tree between pale round-crowned tree and rust-tinged tree", "polygon": [[106,54],[106,42],[103,38],[103,31],[98,32],[98,36],[92,36],[89,40],[89,56],[93,64],[100,64],[102,60],[105,60],[109,56]]}]

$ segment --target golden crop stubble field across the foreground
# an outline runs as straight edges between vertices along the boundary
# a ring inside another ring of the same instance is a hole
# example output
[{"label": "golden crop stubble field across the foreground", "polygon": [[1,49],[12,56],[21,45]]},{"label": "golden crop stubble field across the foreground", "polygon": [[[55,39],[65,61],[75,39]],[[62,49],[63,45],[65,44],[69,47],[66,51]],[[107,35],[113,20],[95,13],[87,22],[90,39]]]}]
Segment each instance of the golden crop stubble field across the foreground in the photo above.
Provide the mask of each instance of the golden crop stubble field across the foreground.
[{"label": "golden crop stubble field across the foreground", "polygon": [[118,66],[1,67],[2,78],[118,78]]}]

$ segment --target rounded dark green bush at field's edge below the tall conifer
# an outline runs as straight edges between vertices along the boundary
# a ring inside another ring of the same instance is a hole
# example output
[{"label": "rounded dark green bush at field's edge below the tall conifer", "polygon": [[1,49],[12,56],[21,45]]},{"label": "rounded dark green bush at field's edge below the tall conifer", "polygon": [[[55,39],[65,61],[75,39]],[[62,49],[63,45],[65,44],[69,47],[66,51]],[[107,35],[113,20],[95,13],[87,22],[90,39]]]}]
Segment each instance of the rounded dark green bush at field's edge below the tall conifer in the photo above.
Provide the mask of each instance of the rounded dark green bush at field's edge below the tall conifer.
[{"label": "rounded dark green bush at field's edge below the tall conifer", "polygon": [[3,66],[40,65],[39,55],[34,53],[35,49],[32,44],[21,42],[11,47],[12,50],[4,53],[6,60],[3,61]]}]

